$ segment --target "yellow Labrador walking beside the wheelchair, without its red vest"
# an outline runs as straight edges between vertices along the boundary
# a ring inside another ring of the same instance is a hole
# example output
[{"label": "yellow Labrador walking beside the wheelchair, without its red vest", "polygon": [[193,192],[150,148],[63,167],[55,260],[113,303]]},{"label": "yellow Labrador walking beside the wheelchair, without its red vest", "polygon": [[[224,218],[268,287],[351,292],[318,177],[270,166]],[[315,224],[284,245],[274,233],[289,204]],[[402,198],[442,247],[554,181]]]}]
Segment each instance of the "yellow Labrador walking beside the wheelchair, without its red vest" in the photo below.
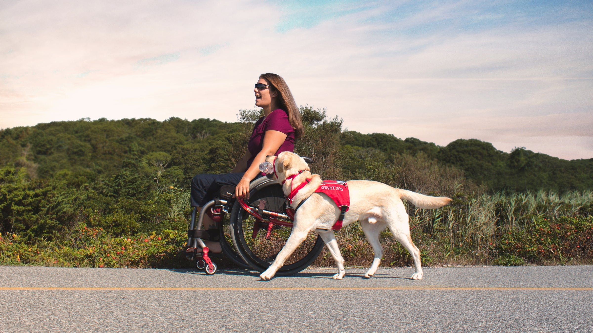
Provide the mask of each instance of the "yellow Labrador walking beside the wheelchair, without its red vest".
[{"label": "yellow Labrador walking beside the wheelchair, without its red vest", "polygon": [[[336,261],[338,273],[333,278],[341,280],[346,275],[344,258],[340,254],[336,238],[333,230],[331,230],[339,217],[340,209],[326,194],[315,193],[315,190],[321,184],[320,175],[311,174],[307,162],[291,152],[282,152],[278,157],[267,156],[266,162],[273,165],[273,172],[267,176],[283,183],[282,190],[287,197],[291,195],[291,192],[294,195],[291,204],[292,208],[297,208],[302,200],[306,201],[295,213],[294,226],[288,241],[286,241],[272,265],[260,274],[260,278],[264,281],[270,280],[276,274],[276,271],[282,267],[286,258],[304,241],[307,234],[314,230],[321,236],[330,251],[331,257]],[[302,186],[302,183],[307,180],[310,180],[310,182],[295,194],[294,190]],[[451,199],[448,197],[424,196],[412,191],[393,188],[377,181],[351,180],[347,181],[347,187],[350,191],[350,209],[344,216],[343,226],[358,220],[361,223],[366,239],[368,239],[375,252],[375,259],[365,277],[372,277],[379,267],[383,254],[379,242],[379,233],[385,227],[389,227],[397,241],[412,255],[415,266],[412,279],[422,279],[420,251],[410,238],[409,218],[401,199],[404,198],[416,207],[424,209],[445,206]]]}]

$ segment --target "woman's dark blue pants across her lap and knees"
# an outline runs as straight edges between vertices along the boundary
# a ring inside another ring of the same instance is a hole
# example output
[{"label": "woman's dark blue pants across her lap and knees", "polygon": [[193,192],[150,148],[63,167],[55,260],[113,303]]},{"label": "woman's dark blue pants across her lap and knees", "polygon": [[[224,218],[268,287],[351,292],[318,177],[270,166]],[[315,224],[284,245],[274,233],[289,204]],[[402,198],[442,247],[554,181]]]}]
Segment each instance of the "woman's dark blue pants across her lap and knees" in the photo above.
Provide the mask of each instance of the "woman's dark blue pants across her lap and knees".
[{"label": "woman's dark blue pants across her lap and knees", "polygon": [[[199,174],[192,179],[192,193],[190,203],[192,207],[202,207],[208,201],[212,200],[222,185],[237,186],[243,178],[245,172],[237,172],[234,174]],[[257,179],[262,177],[262,174],[256,176]]]}]

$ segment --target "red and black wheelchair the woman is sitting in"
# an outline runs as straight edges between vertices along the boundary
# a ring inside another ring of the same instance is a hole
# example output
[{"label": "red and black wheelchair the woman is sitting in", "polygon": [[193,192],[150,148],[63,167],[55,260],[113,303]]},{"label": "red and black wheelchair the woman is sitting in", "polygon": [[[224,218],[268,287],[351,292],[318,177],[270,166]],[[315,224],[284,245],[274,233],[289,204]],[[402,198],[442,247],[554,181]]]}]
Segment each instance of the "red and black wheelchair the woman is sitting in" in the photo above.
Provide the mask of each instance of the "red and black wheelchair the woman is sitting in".
[{"label": "red and black wheelchair the woman is sitting in", "polygon": [[[311,159],[305,158],[308,163]],[[199,214],[192,212],[187,231],[187,247],[194,248],[188,260],[195,261],[199,270],[208,275],[216,273],[212,258],[224,255],[240,268],[259,272],[266,270],[286,244],[292,232],[294,210],[288,206],[281,185],[267,177],[251,181],[249,199],[232,198],[234,187],[222,187],[219,196],[206,203]],[[224,218],[216,222],[221,254],[212,254],[202,238],[202,222],[208,210],[219,212]],[[203,252],[197,252],[197,246]],[[276,276],[286,276],[304,270],[317,259],[324,242],[316,233],[310,233],[294,251]]]}]

